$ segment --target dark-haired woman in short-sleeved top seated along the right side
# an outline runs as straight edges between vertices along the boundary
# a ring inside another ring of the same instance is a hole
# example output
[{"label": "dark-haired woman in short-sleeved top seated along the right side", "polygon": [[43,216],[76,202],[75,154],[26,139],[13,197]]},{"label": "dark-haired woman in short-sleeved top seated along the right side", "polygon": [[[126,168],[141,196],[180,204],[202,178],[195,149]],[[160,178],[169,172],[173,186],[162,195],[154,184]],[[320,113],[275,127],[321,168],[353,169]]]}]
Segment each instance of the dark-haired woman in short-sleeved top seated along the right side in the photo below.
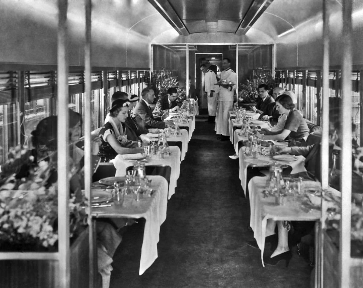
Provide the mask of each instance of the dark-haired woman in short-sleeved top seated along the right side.
[{"label": "dark-haired woman in short-sleeved top seated along the right side", "polygon": [[[294,108],[295,104],[293,104],[290,96],[285,94],[278,96],[276,98],[276,109],[280,114],[286,115],[284,129],[277,132],[278,134],[268,135],[263,138],[275,141],[284,141],[285,139],[305,141],[309,135],[309,128],[305,119]],[[266,130],[264,132],[266,133]],[[266,134],[269,133],[267,132]]]}]

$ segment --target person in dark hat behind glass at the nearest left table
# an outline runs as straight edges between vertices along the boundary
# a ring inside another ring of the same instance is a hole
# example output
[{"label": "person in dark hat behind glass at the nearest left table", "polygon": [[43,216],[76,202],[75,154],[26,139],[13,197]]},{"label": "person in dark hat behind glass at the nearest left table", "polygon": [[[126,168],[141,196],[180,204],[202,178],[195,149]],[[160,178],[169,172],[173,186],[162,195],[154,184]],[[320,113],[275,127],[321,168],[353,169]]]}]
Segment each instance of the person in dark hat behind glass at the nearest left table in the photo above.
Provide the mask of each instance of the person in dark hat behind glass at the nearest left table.
[{"label": "person in dark hat behind glass at the nearest left table", "polygon": [[[82,200],[81,190],[84,187],[84,151],[78,148],[75,143],[81,137],[81,114],[69,110],[69,162],[70,173],[70,192],[76,195],[76,199]],[[99,144],[101,140],[95,137],[92,141],[92,162],[93,171],[97,167],[99,157]],[[38,160],[49,160],[53,167],[53,173],[50,175],[48,182],[54,183],[57,181],[57,116],[50,116],[38,123],[36,130],[32,131],[33,150],[37,153]],[[127,223],[127,219],[124,219]],[[125,226],[125,224],[123,225]],[[97,255],[98,255],[98,271],[102,276],[102,281],[108,283],[112,257],[116,248],[122,241],[122,236],[115,230],[109,219],[96,220],[97,234]]]}]

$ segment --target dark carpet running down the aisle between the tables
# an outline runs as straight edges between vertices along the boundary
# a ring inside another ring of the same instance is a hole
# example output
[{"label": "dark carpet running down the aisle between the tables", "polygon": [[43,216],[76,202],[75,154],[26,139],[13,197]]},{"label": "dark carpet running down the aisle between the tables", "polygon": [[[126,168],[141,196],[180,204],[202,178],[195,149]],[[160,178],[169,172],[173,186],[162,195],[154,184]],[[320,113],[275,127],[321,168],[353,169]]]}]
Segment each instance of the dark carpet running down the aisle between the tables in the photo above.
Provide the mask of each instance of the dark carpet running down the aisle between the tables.
[{"label": "dark carpet running down the aisle between the tables", "polygon": [[[158,259],[139,276],[144,221],[127,227],[112,264],[111,288],[309,287],[311,268],[293,250],[289,267],[281,261],[262,267],[253,240],[249,206],[242,198],[238,161],[229,141],[217,140],[214,125],[197,118],[175,195],[161,226]],[[266,244],[266,255],[270,252]]]}]

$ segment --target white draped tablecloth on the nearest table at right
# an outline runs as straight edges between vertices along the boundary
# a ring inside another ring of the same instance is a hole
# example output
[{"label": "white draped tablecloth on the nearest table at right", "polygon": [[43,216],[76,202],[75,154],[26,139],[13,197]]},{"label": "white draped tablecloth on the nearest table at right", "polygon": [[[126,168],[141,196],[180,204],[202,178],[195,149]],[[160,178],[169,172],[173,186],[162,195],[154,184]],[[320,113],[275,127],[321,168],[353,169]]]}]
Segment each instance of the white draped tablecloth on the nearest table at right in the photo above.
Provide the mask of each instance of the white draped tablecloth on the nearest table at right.
[{"label": "white draped tablecloth on the nearest table at right", "polygon": [[[286,204],[282,206],[275,203],[274,196],[264,198],[262,191],[266,187],[266,179],[266,177],[253,177],[248,183],[251,208],[250,226],[253,230],[253,237],[261,250],[261,261],[264,267],[265,237],[270,236],[266,235],[268,219],[276,221],[315,221],[321,217],[320,210],[302,209],[302,202],[294,199],[294,197],[286,197]],[[319,182],[304,181],[304,183],[309,183],[309,187],[320,187]]]}]

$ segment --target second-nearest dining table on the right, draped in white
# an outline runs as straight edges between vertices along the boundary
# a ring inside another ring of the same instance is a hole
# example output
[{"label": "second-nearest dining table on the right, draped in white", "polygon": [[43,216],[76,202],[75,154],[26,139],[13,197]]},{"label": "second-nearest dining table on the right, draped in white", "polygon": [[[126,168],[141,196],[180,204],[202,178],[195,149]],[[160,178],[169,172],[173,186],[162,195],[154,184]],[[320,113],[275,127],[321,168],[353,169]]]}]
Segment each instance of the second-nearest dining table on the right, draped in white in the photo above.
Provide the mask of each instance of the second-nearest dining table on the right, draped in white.
[{"label": "second-nearest dining table on the right, draped in white", "polygon": [[[267,148],[267,147],[266,147]],[[238,151],[238,161],[240,164],[240,171],[239,171],[239,178],[241,180],[241,186],[246,196],[246,185],[247,185],[247,168],[248,167],[266,167],[268,169],[274,162],[277,162],[281,165],[289,165],[291,166],[291,174],[300,173],[306,171],[305,169],[305,157],[298,155],[298,156],[292,156],[287,155],[290,157],[285,157],[284,155],[260,155],[258,158],[253,158],[252,155],[246,155],[245,154],[246,147],[243,146]],[[280,157],[276,157],[280,156]],[[282,156],[282,157],[281,157]],[[280,159],[274,159],[274,158],[280,158]],[[289,159],[288,159],[289,158]],[[291,160],[291,159],[294,160]],[[248,186],[249,187],[249,186]]]}]

